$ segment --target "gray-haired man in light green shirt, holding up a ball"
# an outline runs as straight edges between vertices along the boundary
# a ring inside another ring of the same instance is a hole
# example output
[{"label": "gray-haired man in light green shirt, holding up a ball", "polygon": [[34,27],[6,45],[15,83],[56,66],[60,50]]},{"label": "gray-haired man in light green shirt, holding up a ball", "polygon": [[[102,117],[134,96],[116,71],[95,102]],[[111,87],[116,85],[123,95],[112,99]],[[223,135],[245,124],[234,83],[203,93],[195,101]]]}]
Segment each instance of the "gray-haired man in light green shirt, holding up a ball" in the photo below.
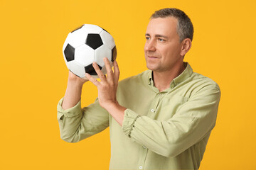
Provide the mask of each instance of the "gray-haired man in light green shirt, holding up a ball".
[{"label": "gray-haired man in light green shirt, holding up a ball", "polygon": [[183,62],[192,39],[183,11],[156,11],[146,28],[149,70],[118,83],[116,61],[113,72],[105,60],[107,77],[94,64],[101,81],[86,77],[97,86],[98,98],[82,109],[86,80],[69,72],[58,103],[61,138],[78,142],[110,127],[110,169],[198,169],[215,126],[220,89]]}]

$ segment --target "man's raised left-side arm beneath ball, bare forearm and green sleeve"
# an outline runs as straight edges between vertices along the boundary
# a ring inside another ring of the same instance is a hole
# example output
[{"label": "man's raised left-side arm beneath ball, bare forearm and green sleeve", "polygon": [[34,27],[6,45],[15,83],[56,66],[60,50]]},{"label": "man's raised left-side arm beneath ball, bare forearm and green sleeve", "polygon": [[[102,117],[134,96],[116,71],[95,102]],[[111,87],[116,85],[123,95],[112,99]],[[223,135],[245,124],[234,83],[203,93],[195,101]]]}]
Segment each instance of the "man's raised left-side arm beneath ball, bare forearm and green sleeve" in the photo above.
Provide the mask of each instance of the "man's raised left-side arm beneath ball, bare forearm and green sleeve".
[{"label": "man's raised left-side arm beneath ball, bare forearm and green sleeve", "polygon": [[86,81],[69,72],[65,96],[57,106],[60,137],[66,142],[79,142],[109,126],[109,114],[97,100],[81,108],[82,85]]}]

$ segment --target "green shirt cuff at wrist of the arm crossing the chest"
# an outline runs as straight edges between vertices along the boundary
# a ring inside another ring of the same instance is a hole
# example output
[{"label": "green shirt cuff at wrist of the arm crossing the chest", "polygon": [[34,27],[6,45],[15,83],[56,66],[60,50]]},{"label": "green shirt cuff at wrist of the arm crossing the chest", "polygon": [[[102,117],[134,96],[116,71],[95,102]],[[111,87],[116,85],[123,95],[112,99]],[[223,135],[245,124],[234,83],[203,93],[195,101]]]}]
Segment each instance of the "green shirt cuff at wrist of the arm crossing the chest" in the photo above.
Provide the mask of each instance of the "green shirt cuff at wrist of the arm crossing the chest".
[{"label": "green shirt cuff at wrist of the arm crossing the chest", "polygon": [[132,130],[135,128],[135,123],[137,118],[139,118],[141,115],[138,115],[134,111],[127,108],[124,111],[124,120],[122,123],[122,130],[125,135],[128,137],[131,137]]}]

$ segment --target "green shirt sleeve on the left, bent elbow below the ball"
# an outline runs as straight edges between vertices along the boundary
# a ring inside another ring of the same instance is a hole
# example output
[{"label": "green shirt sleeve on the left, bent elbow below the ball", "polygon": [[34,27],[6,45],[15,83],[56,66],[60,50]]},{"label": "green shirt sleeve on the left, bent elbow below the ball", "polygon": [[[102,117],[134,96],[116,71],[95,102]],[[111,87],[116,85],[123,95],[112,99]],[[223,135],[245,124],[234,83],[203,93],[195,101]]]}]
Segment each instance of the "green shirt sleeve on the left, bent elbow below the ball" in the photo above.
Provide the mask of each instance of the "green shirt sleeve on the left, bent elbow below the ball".
[{"label": "green shirt sleeve on the left, bent elbow below the ball", "polygon": [[109,126],[109,113],[102,108],[96,99],[95,103],[81,108],[79,101],[72,108],[62,108],[63,98],[57,105],[57,119],[60,127],[60,138],[66,142],[79,142],[95,135]]}]

